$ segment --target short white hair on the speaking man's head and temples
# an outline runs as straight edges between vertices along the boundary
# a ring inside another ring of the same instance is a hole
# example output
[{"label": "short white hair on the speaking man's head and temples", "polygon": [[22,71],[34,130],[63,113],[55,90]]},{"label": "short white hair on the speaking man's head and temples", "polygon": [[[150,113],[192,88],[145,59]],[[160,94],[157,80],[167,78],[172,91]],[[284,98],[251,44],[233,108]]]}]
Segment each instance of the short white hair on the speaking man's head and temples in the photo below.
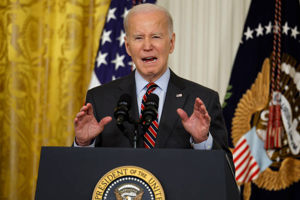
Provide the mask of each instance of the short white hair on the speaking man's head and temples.
[{"label": "short white hair on the speaking man's head and temples", "polygon": [[152,3],[142,3],[139,5],[134,6],[133,8],[131,8],[128,12],[128,14],[126,15],[125,19],[124,19],[124,28],[125,28],[125,34],[126,36],[128,36],[128,21],[131,15],[134,14],[141,14],[141,13],[154,13],[154,12],[163,12],[166,15],[166,20],[167,20],[167,24],[168,24],[168,33],[169,33],[169,37],[172,38],[172,33],[173,33],[173,19],[172,16],[170,14],[170,12],[160,6],[160,5],[155,5]]}]

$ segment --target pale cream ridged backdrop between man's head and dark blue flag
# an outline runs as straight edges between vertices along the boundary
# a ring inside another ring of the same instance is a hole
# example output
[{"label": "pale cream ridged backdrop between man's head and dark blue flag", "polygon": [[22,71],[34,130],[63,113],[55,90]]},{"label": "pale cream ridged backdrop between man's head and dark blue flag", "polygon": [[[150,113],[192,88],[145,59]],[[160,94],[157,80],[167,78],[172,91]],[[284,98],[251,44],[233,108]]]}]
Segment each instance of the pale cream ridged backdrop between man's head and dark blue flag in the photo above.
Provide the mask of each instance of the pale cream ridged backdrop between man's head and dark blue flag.
[{"label": "pale cream ridged backdrop between man's head and dark blue flag", "polygon": [[157,0],[174,20],[177,74],[219,92],[224,100],[251,0]]}]

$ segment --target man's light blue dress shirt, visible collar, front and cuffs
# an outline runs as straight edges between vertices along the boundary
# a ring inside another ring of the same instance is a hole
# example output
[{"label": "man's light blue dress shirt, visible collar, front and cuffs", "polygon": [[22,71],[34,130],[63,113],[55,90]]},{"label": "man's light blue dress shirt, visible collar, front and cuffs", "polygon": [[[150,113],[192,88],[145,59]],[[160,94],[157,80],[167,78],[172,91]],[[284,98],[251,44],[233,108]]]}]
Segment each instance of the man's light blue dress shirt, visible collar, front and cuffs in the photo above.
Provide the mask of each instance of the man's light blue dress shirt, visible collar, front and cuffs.
[{"label": "man's light blue dress shirt, visible collar, front and cuffs", "polygon": [[[160,117],[162,113],[162,108],[164,106],[165,97],[167,93],[168,83],[170,79],[170,69],[167,68],[166,72],[160,76],[154,83],[158,86],[153,93],[156,94],[159,97],[158,102],[158,124],[160,122]],[[142,105],[142,99],[147,91],[147,84],[149,82],[145,80],[136,70],[135,71],[135,85],[136,85],[136,96],[137,96],[137,102],[138,102],[138,110],[139,114],[141,115],[141,105]],[[159,128],[159,127],[158,127]],[[199,144],[195,144],[193,142],[193,138],[190,138],[190,143],[193,145],[194,149],[197,150],[211,150],[212,148],[212,136],[209,132],[208,138],[206,141],[203,141]],[[74,147],[80,147],[75,143],[74,139]],[[95,147],[95,139],[92,141],[92,144],[87,147]]]}]

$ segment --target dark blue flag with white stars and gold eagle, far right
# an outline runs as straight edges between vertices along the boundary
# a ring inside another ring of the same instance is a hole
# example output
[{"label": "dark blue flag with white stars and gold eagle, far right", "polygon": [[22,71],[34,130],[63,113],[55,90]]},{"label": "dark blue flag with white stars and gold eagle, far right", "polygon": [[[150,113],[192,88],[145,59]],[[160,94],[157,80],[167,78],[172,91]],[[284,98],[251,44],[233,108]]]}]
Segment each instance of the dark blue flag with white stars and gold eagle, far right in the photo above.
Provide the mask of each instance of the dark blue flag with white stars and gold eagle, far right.
[{"label": "dark blue flag with white stars and gold eagle, far right", "polygon": [[252,0],[223,103],[242,199],[300,199],[299,91],[299,0]]}]

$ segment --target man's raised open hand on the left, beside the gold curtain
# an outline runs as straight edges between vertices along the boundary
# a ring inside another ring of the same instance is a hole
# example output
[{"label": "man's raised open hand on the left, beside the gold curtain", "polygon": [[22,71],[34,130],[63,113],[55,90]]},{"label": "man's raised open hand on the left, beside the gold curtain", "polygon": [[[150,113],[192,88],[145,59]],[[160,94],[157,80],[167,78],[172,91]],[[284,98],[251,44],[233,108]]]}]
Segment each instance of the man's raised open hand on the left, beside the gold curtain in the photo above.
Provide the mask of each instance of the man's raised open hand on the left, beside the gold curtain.
[{"label": "man's raised open hand on the left, beside the gold curtain", "polygon": [[111,117],[104,117],[98,123],[93,114],[92,104],[82,106],[74,120],[76,144],[81,147],[89,146],[111,120]]}]

